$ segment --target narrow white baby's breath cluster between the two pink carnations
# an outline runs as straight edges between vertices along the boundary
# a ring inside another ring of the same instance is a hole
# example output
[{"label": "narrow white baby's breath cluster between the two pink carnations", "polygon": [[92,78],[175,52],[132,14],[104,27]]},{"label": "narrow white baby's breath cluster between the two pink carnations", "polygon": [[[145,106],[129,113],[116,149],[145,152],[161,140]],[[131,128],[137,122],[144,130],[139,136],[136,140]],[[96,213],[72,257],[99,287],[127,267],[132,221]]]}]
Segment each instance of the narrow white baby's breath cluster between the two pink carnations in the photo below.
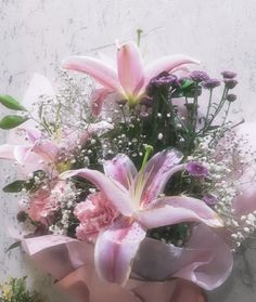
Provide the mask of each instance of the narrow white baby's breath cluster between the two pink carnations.
[{"label": "narrow white baby's breath cluster between the two pink carnations", "polygon": [[79,191],[75,188],[74,184],[68,182],[62,194],[60,194],[60,191],[55,192],[54,189],[51,194],[60,205],[60,220],[50,225],[49,231],[54,235],[67,235]]}]

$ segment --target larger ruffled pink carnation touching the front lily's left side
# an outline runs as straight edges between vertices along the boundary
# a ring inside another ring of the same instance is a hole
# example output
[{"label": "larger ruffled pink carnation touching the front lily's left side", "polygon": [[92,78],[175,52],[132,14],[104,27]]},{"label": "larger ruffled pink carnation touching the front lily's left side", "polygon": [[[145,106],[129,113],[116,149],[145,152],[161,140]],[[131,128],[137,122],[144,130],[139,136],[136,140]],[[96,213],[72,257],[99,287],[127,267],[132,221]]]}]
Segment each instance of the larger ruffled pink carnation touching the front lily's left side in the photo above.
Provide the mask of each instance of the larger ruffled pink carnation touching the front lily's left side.
[{"label": "larger ruffled pink carnation touching the front lily's left side", "polygon": [[90,194],[86,201],[76,206],[74,214],[80,221],[76,236],[85,241],[95,241],[99,232],[119,215],[103,193]]}]

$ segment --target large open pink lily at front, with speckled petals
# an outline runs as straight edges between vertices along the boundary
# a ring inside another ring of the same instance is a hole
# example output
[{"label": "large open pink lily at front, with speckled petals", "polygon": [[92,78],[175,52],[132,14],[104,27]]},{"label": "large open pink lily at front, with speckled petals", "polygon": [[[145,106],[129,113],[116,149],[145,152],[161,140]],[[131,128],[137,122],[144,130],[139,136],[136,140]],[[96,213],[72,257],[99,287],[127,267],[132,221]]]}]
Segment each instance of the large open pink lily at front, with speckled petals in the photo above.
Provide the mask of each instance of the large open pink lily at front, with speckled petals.
[{"label": "large open pink lily at front, with speckled petals", "polygon": [[175,150],[164,150],[148,163],[144,160],[138,172],[127,156],[118,155],[104,162],[105,174],[79,169],[61,175],[61,179],[79,175],[89,180],[119,212],[95,241],[95,270],[106,281],[124,284],[129,278],[132,261],[150,228],[181,222],[223,226],[202,200],[187,196],[159,197],[169,178],[183,169],[183,165],[178,165],[181,158]]}]

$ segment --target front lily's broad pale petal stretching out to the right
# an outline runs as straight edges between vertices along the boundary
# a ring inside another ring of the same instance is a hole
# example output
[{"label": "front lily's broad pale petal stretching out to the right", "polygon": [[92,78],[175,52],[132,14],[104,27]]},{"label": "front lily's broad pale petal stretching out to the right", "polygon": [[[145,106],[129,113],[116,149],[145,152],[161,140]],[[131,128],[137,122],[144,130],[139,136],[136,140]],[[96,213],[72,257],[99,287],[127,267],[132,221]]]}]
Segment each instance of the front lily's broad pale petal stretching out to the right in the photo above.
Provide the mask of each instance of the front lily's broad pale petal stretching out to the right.
[{"label": "front lily's broad pale petal stretching out to the right", "polygon": [[154,228],[180,222],[203,222],[212,227],[221,227],[223,222],[204,201],[191,197],[164,197],[155,208],[137,213],[146,228]]}]

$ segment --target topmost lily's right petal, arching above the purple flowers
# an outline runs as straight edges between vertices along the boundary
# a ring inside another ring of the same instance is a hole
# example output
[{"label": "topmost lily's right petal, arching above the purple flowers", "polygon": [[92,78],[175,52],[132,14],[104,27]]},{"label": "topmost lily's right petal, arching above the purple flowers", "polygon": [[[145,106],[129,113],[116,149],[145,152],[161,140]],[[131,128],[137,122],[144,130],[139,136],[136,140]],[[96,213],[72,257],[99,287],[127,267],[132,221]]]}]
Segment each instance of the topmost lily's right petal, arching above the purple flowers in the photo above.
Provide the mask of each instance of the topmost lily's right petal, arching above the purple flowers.
[{"label": "topmost lily's right petal, arching above the purple flowers", "polygon": [[145,67],[145,86],[161,73],[172,71],[172,69],[189,63],[200,64],[197,60],[183,54],[167,55],[154,61]]}]

